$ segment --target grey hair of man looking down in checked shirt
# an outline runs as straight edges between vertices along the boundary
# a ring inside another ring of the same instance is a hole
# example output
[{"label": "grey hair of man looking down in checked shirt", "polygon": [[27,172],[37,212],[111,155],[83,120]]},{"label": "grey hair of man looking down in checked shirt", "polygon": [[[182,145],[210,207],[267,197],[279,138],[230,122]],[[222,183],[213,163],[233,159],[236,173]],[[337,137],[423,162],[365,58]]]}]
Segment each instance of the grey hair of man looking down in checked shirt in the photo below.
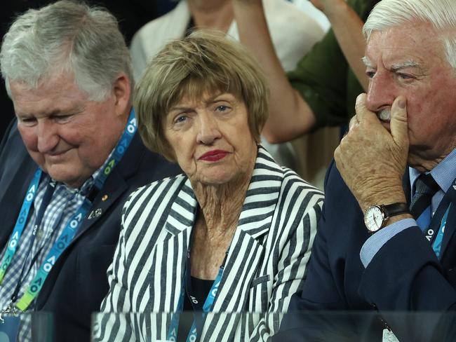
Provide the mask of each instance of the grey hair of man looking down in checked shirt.
[{"label": "grey hair of man looking down in checked shirt", "polygon": [[134,86],[130,53],[116,18],[74,1],[20,15],[4,36],[0,65],[10,97],[10,81],[33,89],[62,72],[74,75],[79,90],[95,101],[112,94],[121,72]]}]

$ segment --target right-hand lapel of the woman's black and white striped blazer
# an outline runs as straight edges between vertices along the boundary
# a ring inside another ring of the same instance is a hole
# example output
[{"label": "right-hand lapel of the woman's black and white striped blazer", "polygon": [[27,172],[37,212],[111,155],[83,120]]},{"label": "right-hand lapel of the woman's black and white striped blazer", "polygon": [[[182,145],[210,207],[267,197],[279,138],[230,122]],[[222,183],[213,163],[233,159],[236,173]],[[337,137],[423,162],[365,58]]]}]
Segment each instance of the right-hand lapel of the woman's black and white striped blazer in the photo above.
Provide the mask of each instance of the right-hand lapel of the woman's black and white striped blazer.
[{"label": "right-hand lapel of the woman's black and white striped blazer", "polygon": [[[238,227],[229,247],[213,312],[246,310],[250,284],[264,254],[262,242],[269,233],[281,190],[283,171],[262,146],[259,146],[252,179],[246,193]],[[239,319],[237,315],[227,319]],[[203,336],[213,331],[220,315],[210,315]]]}]

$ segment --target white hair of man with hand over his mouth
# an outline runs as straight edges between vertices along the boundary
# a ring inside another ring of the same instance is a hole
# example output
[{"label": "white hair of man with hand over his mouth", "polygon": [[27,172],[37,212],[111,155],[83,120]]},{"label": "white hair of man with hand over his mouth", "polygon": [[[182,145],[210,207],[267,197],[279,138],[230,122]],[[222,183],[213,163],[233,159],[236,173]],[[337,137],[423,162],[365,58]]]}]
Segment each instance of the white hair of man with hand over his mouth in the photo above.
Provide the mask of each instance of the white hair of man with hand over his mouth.
[{"label": "white hair of man with hand over his mouth", "polygon": [[429,22],[443,43],[448,63],[456,69],[455,0],[382,0],[373,8],[363,34],[368,41],[375,31],[408,22]]}]

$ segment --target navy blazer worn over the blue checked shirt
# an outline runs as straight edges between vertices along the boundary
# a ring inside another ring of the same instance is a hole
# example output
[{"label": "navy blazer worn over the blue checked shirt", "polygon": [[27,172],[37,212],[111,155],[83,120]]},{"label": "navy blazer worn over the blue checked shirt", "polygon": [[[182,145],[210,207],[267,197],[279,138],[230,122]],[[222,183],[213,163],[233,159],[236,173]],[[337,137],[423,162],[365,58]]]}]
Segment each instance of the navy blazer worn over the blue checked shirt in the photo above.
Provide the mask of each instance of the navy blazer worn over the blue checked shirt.
[{"label": "navy blazer worn over the blue checked shirt", "polygon": [[[0,145],[1,249],[13,231],[36,167],[13,122]],[[91,209],[100,209],[102,214],[84,219],[36,298],[35,310],[53,313],[55,341],[90,340],[90,314],[100,310],[109,289],[106,271],[119,240],[123,203],[139,186],[178,173],[177,165],[147,151],[138,134],[133,137],[93,200]]]}]

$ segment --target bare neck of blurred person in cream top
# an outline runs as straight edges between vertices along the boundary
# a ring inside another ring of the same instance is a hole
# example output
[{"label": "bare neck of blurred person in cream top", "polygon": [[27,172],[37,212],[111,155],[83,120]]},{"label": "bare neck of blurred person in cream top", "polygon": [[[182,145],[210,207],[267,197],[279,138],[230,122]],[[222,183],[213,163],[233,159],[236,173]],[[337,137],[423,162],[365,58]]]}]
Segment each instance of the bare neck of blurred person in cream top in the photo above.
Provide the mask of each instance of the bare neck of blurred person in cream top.
[{"label": "bare neck of blurred person in cream top", "polygon": [[234,20],[231,0],[187,0],[197,29],[227,32]]}]

